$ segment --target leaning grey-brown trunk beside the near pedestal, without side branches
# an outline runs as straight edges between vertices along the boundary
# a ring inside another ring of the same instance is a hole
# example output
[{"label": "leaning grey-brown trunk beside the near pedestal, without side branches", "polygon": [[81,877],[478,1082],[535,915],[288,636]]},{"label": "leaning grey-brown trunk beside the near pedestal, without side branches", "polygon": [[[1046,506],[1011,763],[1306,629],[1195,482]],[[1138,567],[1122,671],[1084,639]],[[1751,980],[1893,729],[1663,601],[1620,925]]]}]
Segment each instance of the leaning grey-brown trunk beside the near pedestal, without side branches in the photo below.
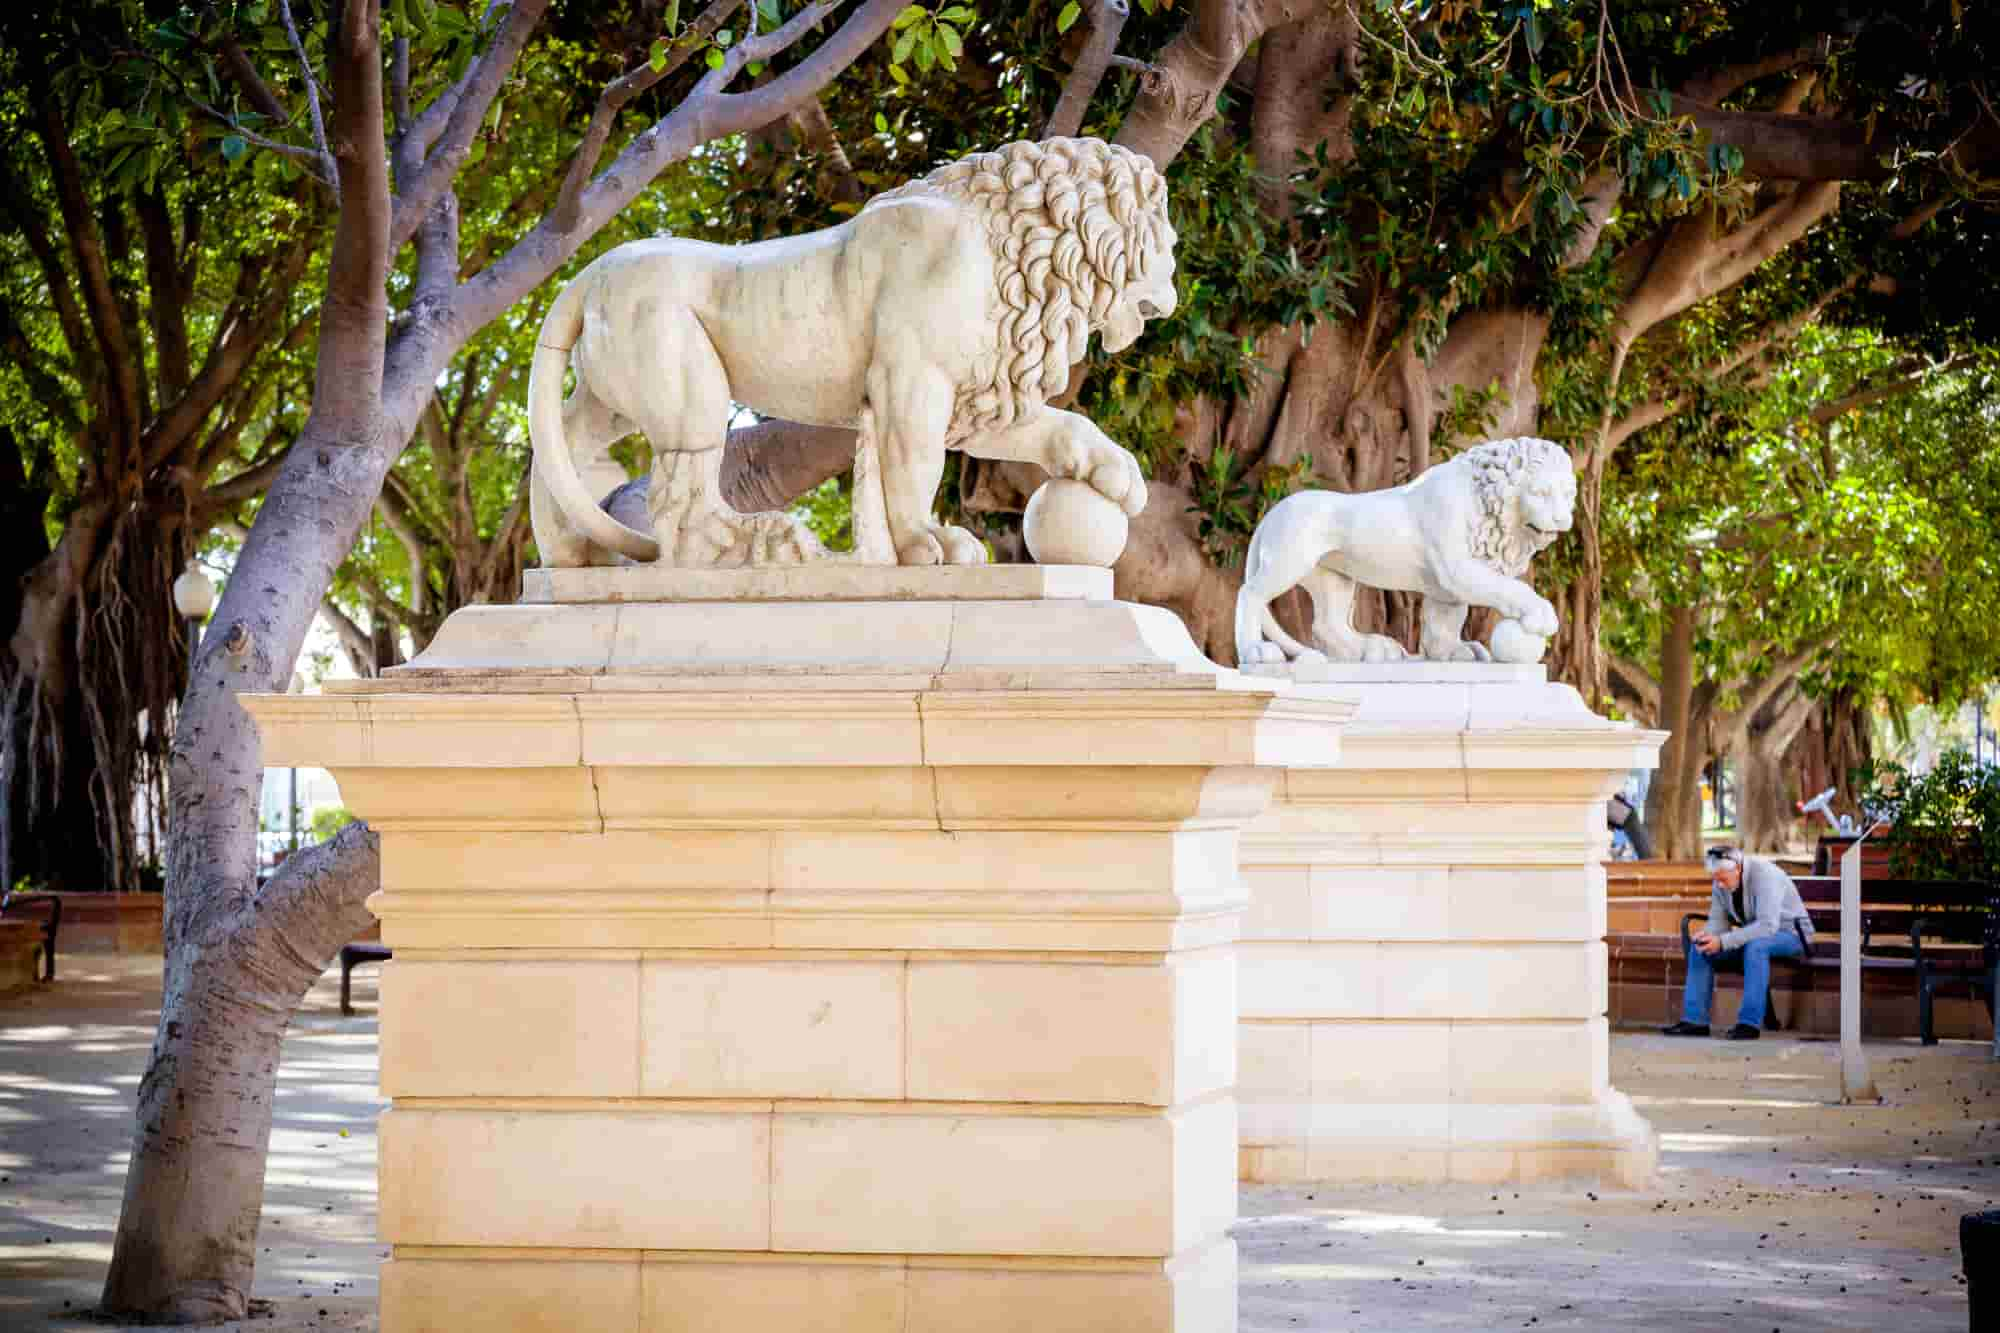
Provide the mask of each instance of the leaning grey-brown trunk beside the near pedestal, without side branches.
[{"label": "leaning grey-brown trunk beside the near pedestal, without side branches", "polygon": [[386,392],[388,168],[380,8],[354,0],[328,34],[340,222],[320,314],[312,414],[224,584],[174,731],[166,955],[104,1309],[176,1323],[248,1313],[278,1043],[292,1009],[368,921],[378,879],[364,825],[256,883],[262,743],[240,691],[284,691],[292,662],[382,492],[458,330],[418,316]]}]

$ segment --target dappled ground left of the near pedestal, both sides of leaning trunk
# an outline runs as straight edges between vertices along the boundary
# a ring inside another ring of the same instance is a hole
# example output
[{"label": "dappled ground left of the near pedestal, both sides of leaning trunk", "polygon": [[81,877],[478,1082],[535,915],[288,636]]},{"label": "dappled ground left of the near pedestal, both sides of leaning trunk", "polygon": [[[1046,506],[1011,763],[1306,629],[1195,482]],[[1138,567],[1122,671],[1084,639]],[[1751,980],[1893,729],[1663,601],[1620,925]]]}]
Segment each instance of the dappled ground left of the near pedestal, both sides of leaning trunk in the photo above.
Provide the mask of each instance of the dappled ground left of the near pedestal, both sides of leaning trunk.
[{"label": "dappled ground left of the near pedestal, both sides of leaning trunk", "polygon": [[[374,1327],[384,1103],[366,973],[356,1001],[342,1019],[338,973],[322,979],[286,1039],[256,1275],[274,1319],[244,1329]],[[66,959],[54,985],[0,1001],[0,1329],[116,1327],[82,1313],[110,1263],[158,1005],[158,961],[130,957]]]}]

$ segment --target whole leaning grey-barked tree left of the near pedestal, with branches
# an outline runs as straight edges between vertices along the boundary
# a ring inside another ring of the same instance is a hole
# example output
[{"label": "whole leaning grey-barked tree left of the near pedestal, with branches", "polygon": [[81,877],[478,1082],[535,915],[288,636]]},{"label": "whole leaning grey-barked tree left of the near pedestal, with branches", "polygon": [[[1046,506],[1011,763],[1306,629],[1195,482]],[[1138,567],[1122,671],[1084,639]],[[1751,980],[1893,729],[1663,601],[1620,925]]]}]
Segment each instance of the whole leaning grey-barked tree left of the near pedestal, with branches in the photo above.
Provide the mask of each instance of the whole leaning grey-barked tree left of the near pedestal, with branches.
[{"label": "whole leaning grey-barked tree left of the near pedestal, with branches", "polygon": [[[170,757],[166,975],[138,1089],[104,1307],[242,1317],[254,1277],[278,1049],[292,1009],[366,923],[374,835],[350,825],[260,885],[258,735],[236,703],[284,689],[334,568],[482,328],[572,260],[668,166],[756,130],[874,46],[900,0],[714,0],[644,26],[598,74],[568,152],[510,178],[518,234],[462,230],[460,188],[514,80],[548,56],[550,0],[220,4],[220,40],[152,54],[182,70],[244,152],[330,194],[310,412],[278,462],[180,701]],[[276,40],[276,36],[282,40]],[[752,74],[750,66],[758,66]],[[208,114],[208,112],[202,112]],[[404,252],[410,252],[408,260]]]}]

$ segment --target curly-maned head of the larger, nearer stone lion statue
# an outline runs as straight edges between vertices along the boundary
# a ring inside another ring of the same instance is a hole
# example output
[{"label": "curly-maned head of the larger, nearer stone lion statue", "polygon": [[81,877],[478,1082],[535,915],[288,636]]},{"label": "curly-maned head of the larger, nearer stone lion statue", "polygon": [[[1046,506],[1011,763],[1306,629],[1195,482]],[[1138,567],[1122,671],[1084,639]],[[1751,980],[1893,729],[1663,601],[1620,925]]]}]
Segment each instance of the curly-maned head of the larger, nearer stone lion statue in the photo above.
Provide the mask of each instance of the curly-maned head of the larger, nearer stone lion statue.
[{"label": "curly-maned head of the larger, nearer stone lion statue", "polygon": [[1174,310],[1166,180],[1096,138],[1006,144],[868,200],[942,194],[986,220],[1002,314],[994,350],[960,388],[952,434],[1010,424],[1070,382],[1094,330],[1110,352]]}]

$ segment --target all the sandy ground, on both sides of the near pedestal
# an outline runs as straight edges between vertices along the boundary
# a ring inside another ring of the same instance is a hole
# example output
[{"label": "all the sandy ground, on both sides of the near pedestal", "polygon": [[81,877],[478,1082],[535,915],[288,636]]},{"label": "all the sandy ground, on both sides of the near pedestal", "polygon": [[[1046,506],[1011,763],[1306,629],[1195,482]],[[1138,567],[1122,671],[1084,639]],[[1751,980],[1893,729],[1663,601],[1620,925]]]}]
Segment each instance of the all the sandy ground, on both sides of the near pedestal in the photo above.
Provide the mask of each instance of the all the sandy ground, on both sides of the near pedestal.
[{"label": "all the sandy ground, on both sides of the near pedestal", "polygon": [[[358,1017],[334,999],[322,981],[280,1073],[268,1317],[226,1327],[374,1329],[372,977]],[[66,959],[56,989],[0,1001],[0,1329],[114,1327],[82,1311],[156,1003],[158,969],[128,959]],[[1958,1217],[2000,1205],[1986,1051],[1874,1043],[1886,1105],[1834,1107],[1828,1043],[1618,1035],[1612,1079],[1660,1129],[1656,1191],[1246,1189],[1242,1327],[1956,1333]]]}]

